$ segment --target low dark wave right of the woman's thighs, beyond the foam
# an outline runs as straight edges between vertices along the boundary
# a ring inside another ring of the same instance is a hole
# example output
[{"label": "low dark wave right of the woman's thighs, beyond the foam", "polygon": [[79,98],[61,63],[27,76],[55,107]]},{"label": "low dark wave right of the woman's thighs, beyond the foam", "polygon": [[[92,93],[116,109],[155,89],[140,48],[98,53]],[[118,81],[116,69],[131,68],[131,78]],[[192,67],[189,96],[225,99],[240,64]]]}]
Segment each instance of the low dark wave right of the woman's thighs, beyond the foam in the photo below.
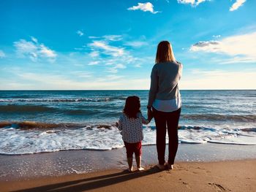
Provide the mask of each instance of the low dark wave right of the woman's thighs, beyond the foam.
[{"label": "low dark wave right of the woman's thighs, beyond the foam", "polygon": [[188,120],[235,120],[241,122],[256,122],[256,115],[181,114],[181,118]]}]

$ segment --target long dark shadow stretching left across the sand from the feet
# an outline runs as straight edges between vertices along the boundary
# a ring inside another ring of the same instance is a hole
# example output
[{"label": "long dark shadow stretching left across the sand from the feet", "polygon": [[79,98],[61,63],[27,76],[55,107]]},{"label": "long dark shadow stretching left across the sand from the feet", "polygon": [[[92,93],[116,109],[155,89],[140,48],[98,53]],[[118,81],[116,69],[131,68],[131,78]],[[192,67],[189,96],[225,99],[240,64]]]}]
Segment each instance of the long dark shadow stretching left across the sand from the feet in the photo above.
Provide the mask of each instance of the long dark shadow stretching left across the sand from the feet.
[{"label": "long dark shadow stretching left across the sand from the feet", "polygon": [[[133,180],[138,177],[147,176],[159,172],[159,169],[154,166],[146,169],[143,172],[127,172],[122,171],[113,174],[106,174],[97,177],[89,177],[82,180],[68,181],[64,183],[56,183],[50,185],[28,188],[20,191],[86,191],[96,188],[102,188],[108,185],[121,183],[127,180]],[[19,191],[19,192],[20,192]]]}]

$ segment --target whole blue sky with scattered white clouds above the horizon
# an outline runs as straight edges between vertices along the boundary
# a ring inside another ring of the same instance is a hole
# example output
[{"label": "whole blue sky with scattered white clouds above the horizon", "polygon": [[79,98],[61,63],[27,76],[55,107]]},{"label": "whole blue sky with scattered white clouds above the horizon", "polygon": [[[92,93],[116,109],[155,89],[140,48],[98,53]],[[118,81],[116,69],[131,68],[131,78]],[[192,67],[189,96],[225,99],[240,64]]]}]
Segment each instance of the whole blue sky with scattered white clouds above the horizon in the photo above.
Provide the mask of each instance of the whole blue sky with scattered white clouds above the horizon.
[{"label": "whole blue sky with scattered white clouds above the horizon", "polygon": [[255,0],[0,0],[0,90],[148,89],[157,45],[179,86],[256,89]]}]

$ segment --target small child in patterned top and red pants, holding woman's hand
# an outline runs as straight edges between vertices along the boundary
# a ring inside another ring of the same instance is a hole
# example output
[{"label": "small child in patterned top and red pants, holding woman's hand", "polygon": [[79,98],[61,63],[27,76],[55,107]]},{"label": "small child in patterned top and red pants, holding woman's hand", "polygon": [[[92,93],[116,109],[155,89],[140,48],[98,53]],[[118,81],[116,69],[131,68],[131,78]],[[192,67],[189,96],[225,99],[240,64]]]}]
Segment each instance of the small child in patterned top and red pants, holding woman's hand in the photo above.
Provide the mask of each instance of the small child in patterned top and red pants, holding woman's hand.
[{"label": "small child in patterned top and red pants, holding woman's hand", "polygon": [[135,153],[135,159],[138,171],[144,170],[141,163],[141,141],[143,140],[143,124],[148,124],[153,117],[148,120],[140,112],[140,98],[138,96],[129,96],[125,101],[123,114],[117,123],[121,131],[124,145],[127,149],[127,162],[129,172],[132,172],[132,155]]}]

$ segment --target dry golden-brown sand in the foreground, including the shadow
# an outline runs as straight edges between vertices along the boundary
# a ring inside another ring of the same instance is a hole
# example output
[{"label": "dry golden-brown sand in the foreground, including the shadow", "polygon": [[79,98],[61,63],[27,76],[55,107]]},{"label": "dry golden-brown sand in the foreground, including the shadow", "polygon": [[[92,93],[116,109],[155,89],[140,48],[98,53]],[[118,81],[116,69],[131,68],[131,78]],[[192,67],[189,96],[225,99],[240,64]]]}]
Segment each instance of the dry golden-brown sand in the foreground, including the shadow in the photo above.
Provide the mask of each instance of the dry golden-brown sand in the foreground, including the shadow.
[{"label": "dry golden-brown sand in the foreground, including the shadow", "polygon": [[256,160],[180,162],[173,170],[110,169],[0,185],[1,191],[256,191]]}]

